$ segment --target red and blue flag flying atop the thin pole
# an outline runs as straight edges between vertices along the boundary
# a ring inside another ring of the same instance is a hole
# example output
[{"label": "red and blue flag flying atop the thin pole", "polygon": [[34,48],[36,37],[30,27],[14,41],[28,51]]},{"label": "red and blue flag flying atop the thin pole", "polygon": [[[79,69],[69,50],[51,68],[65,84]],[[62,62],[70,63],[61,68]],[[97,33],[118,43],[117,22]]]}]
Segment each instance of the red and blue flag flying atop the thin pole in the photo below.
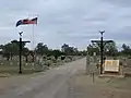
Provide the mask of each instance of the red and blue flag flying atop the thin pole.
[{"label": "red and blue flag flying atop the thin pole", "polygon": [[26,25],[26,24],[37,24],[37,17],[32,19],[32,20],[28,20],[28,19],[20,20],[16,22],[16,27],[20,25]]}]

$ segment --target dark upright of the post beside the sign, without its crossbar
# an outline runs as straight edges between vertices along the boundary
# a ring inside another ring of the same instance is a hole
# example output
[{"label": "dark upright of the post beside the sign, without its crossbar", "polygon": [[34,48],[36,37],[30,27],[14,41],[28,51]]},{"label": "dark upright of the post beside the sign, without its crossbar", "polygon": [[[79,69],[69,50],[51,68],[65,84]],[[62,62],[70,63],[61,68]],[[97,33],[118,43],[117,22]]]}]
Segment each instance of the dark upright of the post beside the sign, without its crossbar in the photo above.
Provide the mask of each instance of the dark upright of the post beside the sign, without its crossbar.
[{"label": "dark upright of the post beside the sign, without its crossbar", "polygon": [[104,45],[103,45],[103,34],[105,33],[105,30],[99,30],[100,33],[100,74],[103,74],[103,56],[104,56]]}]

